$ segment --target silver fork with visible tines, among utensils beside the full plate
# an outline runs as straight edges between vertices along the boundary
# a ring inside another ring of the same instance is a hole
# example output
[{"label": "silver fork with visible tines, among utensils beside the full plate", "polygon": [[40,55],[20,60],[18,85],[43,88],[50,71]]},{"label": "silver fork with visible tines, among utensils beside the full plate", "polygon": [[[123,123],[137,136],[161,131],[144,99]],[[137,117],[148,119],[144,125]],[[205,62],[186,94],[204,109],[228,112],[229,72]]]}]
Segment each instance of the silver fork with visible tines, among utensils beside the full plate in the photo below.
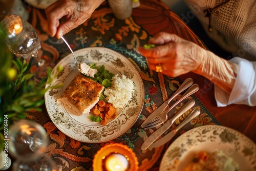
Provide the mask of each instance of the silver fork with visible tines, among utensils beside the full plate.
[{"label": "silver fork with visible tines, among utensils beside the full plate", "polygon": [[187,98],[188,96],[196,93],[199,90],[198,84],[193,84],[183,95],[182,97],[176,101],[170,108],[168,108],[166,111],[163,111],[159,113],[156,117],[152,118],[150,122],[148,122],[145,126],[144,129],[150,129],[152,127],[156,127],[160,124],[162,124],[168,117],[168,113],[170,110],[172,110],[178,103],[180,103],[182,100]]}]

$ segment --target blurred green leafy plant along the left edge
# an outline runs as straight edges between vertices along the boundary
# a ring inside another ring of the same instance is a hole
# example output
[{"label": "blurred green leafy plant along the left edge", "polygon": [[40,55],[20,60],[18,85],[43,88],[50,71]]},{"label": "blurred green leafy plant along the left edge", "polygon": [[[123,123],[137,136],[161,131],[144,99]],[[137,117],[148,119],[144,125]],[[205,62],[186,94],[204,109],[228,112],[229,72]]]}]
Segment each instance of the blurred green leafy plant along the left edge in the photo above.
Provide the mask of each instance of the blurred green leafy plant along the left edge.
[{"label": "blurred green leafy plant along the left edge", "polygon": [[[17,59],[5,44],[5,30],[0,25],[0,140],[7,139],[6,130],[19,119],[24,119],[29,112],[41,111],[45,103],[44,95],[47,83],[52,79],[51,69],[47,76],[39,82],[33,81],[34,74],[30,73],[31,63]],[[48,80],[48,82],[47,82]],[[0,150],[3,149],[0,144]]]}]

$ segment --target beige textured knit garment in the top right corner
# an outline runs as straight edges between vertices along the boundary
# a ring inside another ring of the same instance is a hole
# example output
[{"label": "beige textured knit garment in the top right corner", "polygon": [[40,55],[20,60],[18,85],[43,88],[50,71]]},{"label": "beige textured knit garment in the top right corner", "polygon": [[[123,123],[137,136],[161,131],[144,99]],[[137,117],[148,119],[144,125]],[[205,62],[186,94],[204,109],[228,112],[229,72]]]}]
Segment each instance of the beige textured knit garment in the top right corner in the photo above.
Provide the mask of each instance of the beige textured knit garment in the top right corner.
[{"label": "beige textured knit garment in the top right corner", "polygon": [[211,14],[213,31],[209,32],[209,18],[205,17],[203,10],[214,8],[224,1],[185,0],[210,38],[234,56],[256,61],[256,0],[231,0],[219,7]]}]

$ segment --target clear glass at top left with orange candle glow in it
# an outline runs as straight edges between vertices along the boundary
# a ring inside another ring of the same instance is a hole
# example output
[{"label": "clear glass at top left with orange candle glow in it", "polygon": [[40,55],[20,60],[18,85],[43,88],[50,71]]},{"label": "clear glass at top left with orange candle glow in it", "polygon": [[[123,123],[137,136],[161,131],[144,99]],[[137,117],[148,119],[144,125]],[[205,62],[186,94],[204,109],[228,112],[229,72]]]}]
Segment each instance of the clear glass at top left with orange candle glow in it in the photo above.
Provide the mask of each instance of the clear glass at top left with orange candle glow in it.
[{"label": "clear glass at top left with orange candle glow in it", "polygon": [[18,58],[38,60],[38,66],[44,65],[37,53],[41,48],[40,38],[34,28],[19,15],[10,15],[2,22],[7,31],[7,45]]}]

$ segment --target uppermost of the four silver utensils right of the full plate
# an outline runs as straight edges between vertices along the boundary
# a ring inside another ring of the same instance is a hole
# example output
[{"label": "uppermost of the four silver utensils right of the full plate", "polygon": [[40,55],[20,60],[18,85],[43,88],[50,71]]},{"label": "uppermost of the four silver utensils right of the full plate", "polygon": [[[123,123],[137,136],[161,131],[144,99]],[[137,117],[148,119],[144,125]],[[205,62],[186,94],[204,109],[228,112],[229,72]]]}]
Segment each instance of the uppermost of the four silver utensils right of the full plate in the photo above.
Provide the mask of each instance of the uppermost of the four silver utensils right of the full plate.
[{"label": "uppermost of the four silver utensils right of the full plate", "polygon": [[147,122],[151,121],[151,119],[158,115],[160,112],[163,112],[170,101],[172,101],[178,94],[189,88],[193,83],[194,80],[192,78],[185,79],[185,81],[183,81],[183,83],[181,84],[179,89],[174,93],[174,95],[170,97],[167,101],[165,101],[162,105],[160,105],[152,114],[150,114],[150,116],[148,116],[141,124],[141,127],[143,128],[147,124]]}]

